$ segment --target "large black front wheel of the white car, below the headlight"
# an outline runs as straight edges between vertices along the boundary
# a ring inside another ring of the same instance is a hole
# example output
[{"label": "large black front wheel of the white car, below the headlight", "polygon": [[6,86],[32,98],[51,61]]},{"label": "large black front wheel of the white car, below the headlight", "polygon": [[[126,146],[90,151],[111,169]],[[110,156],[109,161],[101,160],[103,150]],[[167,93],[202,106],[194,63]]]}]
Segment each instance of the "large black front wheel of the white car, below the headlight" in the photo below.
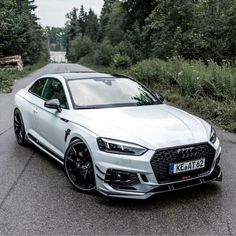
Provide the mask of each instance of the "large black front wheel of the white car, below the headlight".
[{"label": "large black front wheel of the white car, below the headlight", "polygon": [[65,153],[66,176],[79,192],[91,193],[96,187],[93,161],[90,152],[81,140],[73,141]]}]

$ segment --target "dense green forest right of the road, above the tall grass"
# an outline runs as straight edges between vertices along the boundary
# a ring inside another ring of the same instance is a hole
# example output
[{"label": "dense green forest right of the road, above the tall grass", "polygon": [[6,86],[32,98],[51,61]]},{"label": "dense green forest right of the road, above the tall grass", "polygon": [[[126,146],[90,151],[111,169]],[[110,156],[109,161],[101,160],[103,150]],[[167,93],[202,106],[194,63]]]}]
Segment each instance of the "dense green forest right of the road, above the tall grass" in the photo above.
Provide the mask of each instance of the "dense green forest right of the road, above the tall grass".
[{"label": "dense green forest right of the road, above the tall grass", "polygon": [[126,67],[146,58],[236,59],[234,0],[105,0],[99,18],[81,6],[67,19],[65,46],[74,62],[87,57]]}]

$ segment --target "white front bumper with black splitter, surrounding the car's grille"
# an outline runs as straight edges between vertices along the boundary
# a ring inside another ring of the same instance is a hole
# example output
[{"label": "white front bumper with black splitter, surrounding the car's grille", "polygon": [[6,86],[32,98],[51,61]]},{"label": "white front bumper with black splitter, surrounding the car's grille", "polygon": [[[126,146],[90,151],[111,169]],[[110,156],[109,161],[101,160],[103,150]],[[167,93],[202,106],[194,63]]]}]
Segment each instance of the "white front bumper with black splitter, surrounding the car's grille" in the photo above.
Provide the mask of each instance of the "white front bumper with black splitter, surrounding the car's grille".
[{"label": "white front bumper with black splitter, surrounding the car's grille", "polygon": [[[153,172],[150,163],[155,154],[153,150],[149,150],[141,157],[115,155],[97,150],[94,154],[96,155],[94,169],[97,191],[109,197],[147,199],[159,193],[193,187],[214,180],[221,181],[222,171],[219,166],[221,147],[219,140],[214,145],[210,145],[215,149],[215,156],[209,171],[189,179],[166,183],[158,183]],[[134,181],[131,185],[114,187],[107,178],[109,170],[121,171],[121,174],[131,173],[137,176],[137,178],[133,178]]]}]

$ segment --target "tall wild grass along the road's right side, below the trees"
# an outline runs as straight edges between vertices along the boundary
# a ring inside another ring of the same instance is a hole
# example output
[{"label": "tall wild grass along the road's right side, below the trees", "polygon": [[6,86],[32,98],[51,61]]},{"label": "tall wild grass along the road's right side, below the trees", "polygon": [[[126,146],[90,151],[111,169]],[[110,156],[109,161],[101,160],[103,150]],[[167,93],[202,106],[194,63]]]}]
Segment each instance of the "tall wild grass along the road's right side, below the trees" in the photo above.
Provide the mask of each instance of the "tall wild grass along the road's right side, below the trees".
[{"label": "tall wild grass along the road's right side, below the trees", "polygon": [[130,75],[162,94],[168,103],[236,132],[236,69],[227,63],[218,66],[209,61],[205,65],[173,58],[145,60],[125,70],[85,66],[98,72]]}]

